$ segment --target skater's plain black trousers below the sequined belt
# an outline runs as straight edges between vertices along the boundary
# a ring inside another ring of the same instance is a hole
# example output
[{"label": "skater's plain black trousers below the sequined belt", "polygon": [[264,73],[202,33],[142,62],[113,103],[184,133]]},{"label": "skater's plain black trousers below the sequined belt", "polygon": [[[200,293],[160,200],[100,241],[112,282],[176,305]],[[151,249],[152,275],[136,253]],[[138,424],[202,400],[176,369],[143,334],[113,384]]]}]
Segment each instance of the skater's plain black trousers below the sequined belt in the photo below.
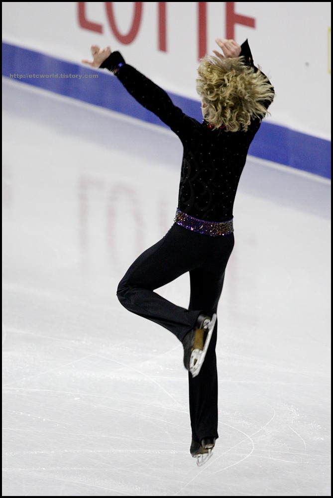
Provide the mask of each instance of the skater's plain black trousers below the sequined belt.
[{"label": "skater's plain black trousers below the sequined belt", "polygon": [[[117,297],[132,313],[162,325],[181,341],[201,313],[217,312],[224,271],[233,249],[233,234],[211,237],[174,224],[157,244],[145,250],[120,281]],[[189,272],[189,309],[154,292]],[[192,437],[218,438],[218,374],[215,347],[217,323],[199,375],[189,373]]]}]

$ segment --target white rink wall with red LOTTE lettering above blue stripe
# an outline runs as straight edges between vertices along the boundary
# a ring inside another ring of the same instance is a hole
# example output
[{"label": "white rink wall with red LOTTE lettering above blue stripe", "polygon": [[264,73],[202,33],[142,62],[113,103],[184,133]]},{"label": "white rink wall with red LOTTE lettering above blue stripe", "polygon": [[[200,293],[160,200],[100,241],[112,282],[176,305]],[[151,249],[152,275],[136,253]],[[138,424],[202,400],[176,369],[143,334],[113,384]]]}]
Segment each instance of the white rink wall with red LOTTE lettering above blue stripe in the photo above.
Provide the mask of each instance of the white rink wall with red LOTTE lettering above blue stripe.
[{"label": "white rink wall with red LOTTE lettering above blue stripe", "polygon": [[[245,19],[226,13],[227,4]],[[140,6],[136,36],[128,40]],[[91,22],[95,30],[82,27]],[[206,33],[212,53],[215,38],[231,37],[232,29],[238,43],[248,38],[255,63],[274,84],[269,120],[330,139],[331,2],[2,2],[4,41],[76,63],[89,57],[92,44],[111,45],[167,91],[194,99],[198,45],[206,46]]]}]

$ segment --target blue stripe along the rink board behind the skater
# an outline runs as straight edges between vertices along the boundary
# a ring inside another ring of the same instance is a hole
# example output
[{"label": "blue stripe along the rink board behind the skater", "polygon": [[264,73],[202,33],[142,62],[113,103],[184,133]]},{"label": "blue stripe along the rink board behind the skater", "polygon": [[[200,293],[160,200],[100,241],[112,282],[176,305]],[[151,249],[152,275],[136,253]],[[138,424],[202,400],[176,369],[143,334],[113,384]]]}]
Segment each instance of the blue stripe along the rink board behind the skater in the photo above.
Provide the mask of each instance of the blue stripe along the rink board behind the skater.
[{"label": "blue stripe along the rink board behind the skater", "polygon": [[[106,71],[94,71],[88,66],[2,42],[2,76],[148,123],[165,126],[155,115],[130,97],[119,81]],[[184,113],[198,121],[202,120],[198,101],[172,93],[169,95]],[[261,159],[331,179],[330,140],[263,122],[249,153]]]}]

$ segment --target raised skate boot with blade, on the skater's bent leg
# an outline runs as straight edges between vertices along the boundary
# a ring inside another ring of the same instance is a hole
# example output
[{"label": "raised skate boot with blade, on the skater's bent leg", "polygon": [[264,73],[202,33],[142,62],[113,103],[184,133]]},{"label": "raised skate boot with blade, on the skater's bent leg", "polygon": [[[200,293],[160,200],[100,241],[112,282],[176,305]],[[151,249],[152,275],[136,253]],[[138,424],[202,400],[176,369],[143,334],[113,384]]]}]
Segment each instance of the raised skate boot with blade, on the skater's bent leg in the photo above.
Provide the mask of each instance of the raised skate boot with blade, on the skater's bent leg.
[{"label": "raised skate boot with blade, on the skater's bent leg", "polygon": [[199,374],[204,363],[216,318],[215,313],[212,317],[199,315],[194,329],[190,330],[182,341],[184,346],[184,366],[186,370],[192,373],[192,377]]}]

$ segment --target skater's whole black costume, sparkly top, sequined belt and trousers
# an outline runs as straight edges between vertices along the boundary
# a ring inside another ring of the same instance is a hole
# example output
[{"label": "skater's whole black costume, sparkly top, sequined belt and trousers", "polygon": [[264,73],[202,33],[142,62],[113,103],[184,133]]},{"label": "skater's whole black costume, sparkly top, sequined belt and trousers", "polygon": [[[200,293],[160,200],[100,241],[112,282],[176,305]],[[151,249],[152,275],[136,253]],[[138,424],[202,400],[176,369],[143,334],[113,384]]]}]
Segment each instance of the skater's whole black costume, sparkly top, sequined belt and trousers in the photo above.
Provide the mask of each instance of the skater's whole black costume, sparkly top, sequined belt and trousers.
[{"label": "skater's whole black costume, sparkly top, sequined belt and trousers", "polygon": [[[240,56],[253,66],[247,41]],[[234,238],[232,208],[248,148],[261,121],[246,132],[213,129],[174,106],[167,93],[112,52],[101,65],[112,71],[142,106],[153,112],[180,138],[184,153],[174,225],[165,237],[144,251],[119,283],[117,296],[129,311],[162,325],[179,340],[198,316],[217,312],[224,271]],[[268,108],[271,101],[264,103]],[[155,289],[185,272],[190,274],[188,309],[173,304]],[[215,346],[217,324],[200,374],[189,373],[189,400],[194,441],[218,438],[218,376]]]}]

